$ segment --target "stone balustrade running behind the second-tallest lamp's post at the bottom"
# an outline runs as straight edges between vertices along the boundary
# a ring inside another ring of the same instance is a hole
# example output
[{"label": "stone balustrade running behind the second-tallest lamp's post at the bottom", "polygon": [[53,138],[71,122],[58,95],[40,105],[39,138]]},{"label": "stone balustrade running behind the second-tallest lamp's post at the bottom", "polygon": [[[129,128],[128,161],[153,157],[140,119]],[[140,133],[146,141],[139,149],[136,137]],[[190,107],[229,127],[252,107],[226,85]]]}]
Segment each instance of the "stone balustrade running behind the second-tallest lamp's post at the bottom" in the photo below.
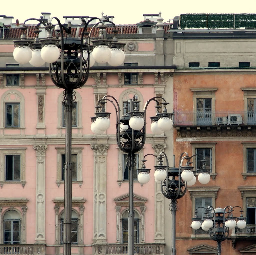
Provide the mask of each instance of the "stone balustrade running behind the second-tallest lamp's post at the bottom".
[{"label": "stone balustrade running behind the second-tallest lamp's post at the bottom", "polygon": [[[126,254],[128,253],[127,244],[95,244],[96,254]],[[135,244],[135,254],[164,254],[164,243],[161,244]]]}]

